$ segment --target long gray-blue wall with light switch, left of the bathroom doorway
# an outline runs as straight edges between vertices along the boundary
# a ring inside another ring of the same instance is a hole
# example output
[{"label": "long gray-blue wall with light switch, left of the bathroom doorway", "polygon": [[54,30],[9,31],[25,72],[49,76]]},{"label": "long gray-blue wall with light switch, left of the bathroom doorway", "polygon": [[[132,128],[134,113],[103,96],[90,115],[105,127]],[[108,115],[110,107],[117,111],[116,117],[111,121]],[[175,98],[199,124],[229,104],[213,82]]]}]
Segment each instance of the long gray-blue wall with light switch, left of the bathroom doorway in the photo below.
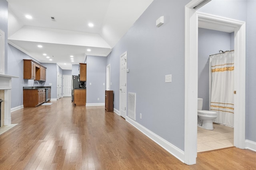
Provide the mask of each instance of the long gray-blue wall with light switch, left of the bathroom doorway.
[{"label": "long gray-blue wall with light switch, left of the bathroom doorway", "polygon": [[[184,150],[184,6],[155,0],[108,55],[114,108],[119,110],[119,62],[127,51],[127,92],[136,93],[136,121]],[[156,20],[164,16],[164,24]],[[165,83],[165,75],[172,82]],[[142,113],[142,119],[140,114]]]}]

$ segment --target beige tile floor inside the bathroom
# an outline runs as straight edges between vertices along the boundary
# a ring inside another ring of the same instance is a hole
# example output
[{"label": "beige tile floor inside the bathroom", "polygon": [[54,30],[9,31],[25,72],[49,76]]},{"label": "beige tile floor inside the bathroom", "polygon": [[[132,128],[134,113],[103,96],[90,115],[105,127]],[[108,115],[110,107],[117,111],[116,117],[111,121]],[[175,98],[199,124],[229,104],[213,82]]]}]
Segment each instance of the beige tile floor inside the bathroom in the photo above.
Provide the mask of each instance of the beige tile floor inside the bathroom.
[{"label": "beige tile floor inside the bathroom", "polygon": [[234,129],[213,124],[214,130],[197,128],[197,152],[234,146]]}]

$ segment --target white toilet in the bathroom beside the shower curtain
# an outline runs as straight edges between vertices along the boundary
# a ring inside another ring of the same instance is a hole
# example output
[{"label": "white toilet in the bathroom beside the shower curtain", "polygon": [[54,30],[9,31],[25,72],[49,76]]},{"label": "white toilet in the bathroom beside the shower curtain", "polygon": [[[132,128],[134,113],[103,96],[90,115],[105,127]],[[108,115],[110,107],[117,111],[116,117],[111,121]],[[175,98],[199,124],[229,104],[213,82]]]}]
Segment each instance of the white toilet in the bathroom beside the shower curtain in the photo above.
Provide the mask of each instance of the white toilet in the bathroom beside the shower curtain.
[{"label": "white toilet in the bathroom beside the shower curtain", "polygon": [[213,120],[217,118],[217,113],[209,110],[202,110],[203,99],[198,98],[197,103],[197,125],[203,129],[213,130]]}]

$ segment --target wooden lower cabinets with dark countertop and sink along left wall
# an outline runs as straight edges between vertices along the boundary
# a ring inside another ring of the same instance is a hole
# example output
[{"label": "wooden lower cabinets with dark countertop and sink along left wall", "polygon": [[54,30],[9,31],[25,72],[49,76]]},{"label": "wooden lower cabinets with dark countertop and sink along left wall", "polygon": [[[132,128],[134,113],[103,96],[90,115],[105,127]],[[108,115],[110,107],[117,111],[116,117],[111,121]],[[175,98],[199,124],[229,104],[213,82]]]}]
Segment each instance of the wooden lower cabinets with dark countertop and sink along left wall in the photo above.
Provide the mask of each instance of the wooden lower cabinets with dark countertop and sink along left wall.
[{"label": "wooden lower cabinets with dark countertop and sink along left wall", "polygon": [[36,107],[46,102],[45,89],[23,89],[23,106]]}]

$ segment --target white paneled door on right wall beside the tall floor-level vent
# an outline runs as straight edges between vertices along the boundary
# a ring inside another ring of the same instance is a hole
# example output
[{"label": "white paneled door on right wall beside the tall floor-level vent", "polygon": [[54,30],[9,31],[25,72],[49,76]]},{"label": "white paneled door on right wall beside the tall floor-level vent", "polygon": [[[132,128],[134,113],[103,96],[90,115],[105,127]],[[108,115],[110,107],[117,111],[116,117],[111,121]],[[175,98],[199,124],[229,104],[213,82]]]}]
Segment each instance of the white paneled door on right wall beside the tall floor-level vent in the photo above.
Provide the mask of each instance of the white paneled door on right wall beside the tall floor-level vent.
[{"label": "white paneled door on right wall beside the tall floor-level vent", "polygon": [[120,56],[120,115],[126,117],[127,52]]}]

